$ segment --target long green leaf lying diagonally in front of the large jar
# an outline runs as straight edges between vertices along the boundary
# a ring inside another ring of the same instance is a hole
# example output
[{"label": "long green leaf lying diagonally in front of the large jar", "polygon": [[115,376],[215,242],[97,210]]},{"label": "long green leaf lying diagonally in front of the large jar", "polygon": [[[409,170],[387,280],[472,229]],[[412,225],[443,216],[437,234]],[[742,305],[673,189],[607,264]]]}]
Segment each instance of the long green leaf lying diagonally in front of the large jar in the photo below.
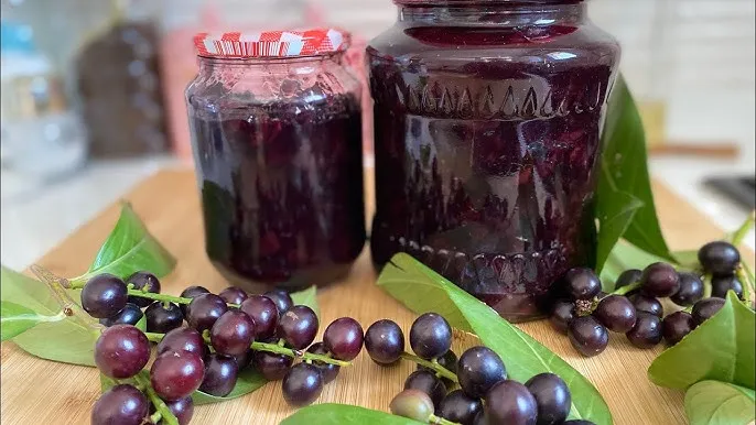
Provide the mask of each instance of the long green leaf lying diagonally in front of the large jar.
[{"label": "long green leaf lying diagonally in front of the large jar", "polygon": [[393,255],[378,276],[378,285],[418,314],[439,313],[452,326],[476,334],[501,357],[511,379],[525,382],[543,372],[560,375],[572,393],[571,417],[598,425],[612,424],[606,402],[585,377],[494,309],[412,257]]}]

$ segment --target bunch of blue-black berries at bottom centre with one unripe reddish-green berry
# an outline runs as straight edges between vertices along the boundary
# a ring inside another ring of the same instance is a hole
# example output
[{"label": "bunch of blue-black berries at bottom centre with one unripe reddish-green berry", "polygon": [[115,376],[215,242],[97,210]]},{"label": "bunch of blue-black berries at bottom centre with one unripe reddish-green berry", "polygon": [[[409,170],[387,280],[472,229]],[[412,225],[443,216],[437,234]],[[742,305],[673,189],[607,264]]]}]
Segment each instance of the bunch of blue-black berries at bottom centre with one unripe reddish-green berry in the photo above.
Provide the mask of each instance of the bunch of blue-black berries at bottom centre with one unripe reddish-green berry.
[{"label": "bunch of blue-black berries at bottom centre with one unripe reddish-green berry", "polygon": [[422,423],[461,425],[565,424],[571,395],[566,383],[553,373],[532,377],[525,384],[507,378],[501,358],[486,347],[467,349],[457,359],[452,346],[452,328],[435,313],[418,317],[410,328],[410,346],[392,320],[378,320],[365,333],[365,349],[381,366],[400,359],[418,368],[391,401],[393,414]]}]

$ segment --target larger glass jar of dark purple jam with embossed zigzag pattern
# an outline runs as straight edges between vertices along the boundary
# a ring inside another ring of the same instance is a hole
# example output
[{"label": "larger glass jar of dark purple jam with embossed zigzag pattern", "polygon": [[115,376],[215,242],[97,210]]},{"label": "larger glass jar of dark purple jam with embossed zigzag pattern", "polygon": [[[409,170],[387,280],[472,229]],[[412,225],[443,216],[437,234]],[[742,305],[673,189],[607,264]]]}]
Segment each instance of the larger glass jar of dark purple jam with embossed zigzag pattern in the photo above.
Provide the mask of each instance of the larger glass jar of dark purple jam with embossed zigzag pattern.
[{"label": "larger glass jar of dark purple jam with embossed zigzag pattern", "polygon": [[380,265],[407,251],[510,320],[595,252],[619,46],[581,0],[396,0],[368,47]]}]

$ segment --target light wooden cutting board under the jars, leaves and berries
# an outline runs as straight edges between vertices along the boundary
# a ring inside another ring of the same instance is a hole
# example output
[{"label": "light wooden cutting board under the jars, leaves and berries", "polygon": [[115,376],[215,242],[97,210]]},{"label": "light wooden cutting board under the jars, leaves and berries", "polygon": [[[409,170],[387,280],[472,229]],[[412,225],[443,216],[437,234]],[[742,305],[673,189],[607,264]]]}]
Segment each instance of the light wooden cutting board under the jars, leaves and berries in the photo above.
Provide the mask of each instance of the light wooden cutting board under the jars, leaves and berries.
[{"label": "light wooden cutting board under the jars, leaves and berries", "polygon": [[[372,199],[371,175],[366,178]],[[655,184],[657,208],[668,241],[674,249],[690,249],[723,233],[666,187]],[[196,181],[191,171],[164,171],[142,182],[125,199],[150,231],[177,259],[176,270],[162,282],[163,292],[179,294],[192,284],[218,292],[227,283],[205,257]],[[371,209],[371,206],[368,206]],[[71,235],[44,255],[39,264],[61,276],[76,276],[87,270],[98,248],[118,218],[114,205]],[[51,211],[55,214],[55,211]],[[369,215],[368,215],[369,216]],[[367,249],[352,274],[343,282],[318,291],[322,323],[350,316],[365,328],[380,318],[397,320],[406,334],[414,315],[375,286]],[[646,370],[661,351],[640,350],[624,336],[612,335],[609,347],[591,359],[579,356],[566,337],[541,320],[519,325],[585,374],[603,394],[616,424],[684,424],[683,393],[658,388]],[[321,331],[325,326],[321,326]],[[460,353],[474,345],[472,337],[455,339]],[[99,395],[98,372],[94,368],[56,363],[35,358],[12,342],[3,342],[1,357],[1,411],[4,424],[88,424],[91,405]],[[507,359],[504,359],[505,363]],[[392,396],[401,391],[414,364],[402,362],[382,369],[363,352],[350,368],[326,385],[320,402],[356,404],[387,411]],[[281,396],[280,382],[269,383],[244,397],[195,408],[194,424],[277,424],[293,413]]]}]

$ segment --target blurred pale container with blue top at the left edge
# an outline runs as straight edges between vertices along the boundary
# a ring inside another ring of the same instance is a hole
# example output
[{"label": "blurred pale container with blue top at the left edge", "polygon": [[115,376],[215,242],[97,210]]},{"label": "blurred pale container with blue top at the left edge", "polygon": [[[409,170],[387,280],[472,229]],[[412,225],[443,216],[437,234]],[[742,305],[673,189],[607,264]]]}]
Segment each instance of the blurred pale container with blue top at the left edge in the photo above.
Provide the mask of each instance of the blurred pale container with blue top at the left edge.
[{"label": "blurred pale container with blue top at the left edge", "polygon": [[86,133],[69,109],[60,75],[36,50],[32,29],[13,22],[2,22],[1,29],[0,159],[4,172],[32,187],[79,168]]}]

